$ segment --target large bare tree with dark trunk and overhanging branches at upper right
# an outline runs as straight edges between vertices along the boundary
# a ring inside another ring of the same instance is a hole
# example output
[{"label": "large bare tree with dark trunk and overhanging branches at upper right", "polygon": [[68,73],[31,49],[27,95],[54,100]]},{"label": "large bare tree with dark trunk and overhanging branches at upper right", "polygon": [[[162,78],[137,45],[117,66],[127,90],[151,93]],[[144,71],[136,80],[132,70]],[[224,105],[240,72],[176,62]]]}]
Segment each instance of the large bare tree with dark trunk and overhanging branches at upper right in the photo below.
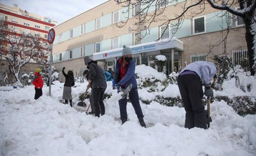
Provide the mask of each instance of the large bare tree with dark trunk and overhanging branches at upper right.
[{"label": "large bare tree with dark trunk and overhanging branches at upper right", "polygon": [[[241,17],[245,25],[245,38],[248,48],[248,57],[250,72],[255,74],[256,68],[256,0],[185,0],[182,3],[181,10],[174,12],[174,17],[167,14],[166,5],[169,2],[178,4],[178,0],[115,0],[123,7],[127,7],[127,11],[123,12],[128,14],[126,20],[117,24],[118,27],[123,27],[130,20],[129,10],[140,7],[141,9],[135,12],[134,16],[136,22],[131,28],[132,31],[137,31],[141,27],[146,31],[144,35],[150,33],[150,27],[158,22],[161,25],[170,24],[172,34],[174,35],[181,27],[184,19],[191,18],[197,14],[205,11],[206,7],[222,10],[233,14],[234,16]],[[239,7],[240,9],[237,9]],[[164,31],[168,30],[168,27]],[[163,32],[160,38],[163,36]],[[144,36],[141,36],[141,38]],[[160,39],[159,38],[159,39]]]}]

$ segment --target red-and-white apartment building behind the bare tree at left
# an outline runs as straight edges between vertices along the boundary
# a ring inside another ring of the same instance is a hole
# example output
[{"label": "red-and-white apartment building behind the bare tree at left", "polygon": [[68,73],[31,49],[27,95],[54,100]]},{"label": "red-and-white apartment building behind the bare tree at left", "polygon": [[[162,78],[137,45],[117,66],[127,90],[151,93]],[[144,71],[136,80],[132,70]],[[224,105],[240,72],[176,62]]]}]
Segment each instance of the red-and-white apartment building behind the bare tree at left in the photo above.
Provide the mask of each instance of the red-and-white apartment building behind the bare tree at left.
[{"label": "red-and-white apartment building behind the bare tree at left", "polygon": [[[11,27],[17,35],[22,35],[23,33],[31,33],[36,37],[41,37],[43,40],[47,41],[48,30],[57,24],[56,21],[49,17],[43,17],[36,15],[34,13],[28,12],[18,8],[17,4],[13,7],[0,4],[0,22],[3,25],[8,25]],[[8,70],[8,63],[6,60],[1,60],[0,66],[0,80],[3,80],[3,73]],[[25,73],[34,71],[38,67],[36,63],[28,63],[23,67],[20,72],[19,77]]]}]

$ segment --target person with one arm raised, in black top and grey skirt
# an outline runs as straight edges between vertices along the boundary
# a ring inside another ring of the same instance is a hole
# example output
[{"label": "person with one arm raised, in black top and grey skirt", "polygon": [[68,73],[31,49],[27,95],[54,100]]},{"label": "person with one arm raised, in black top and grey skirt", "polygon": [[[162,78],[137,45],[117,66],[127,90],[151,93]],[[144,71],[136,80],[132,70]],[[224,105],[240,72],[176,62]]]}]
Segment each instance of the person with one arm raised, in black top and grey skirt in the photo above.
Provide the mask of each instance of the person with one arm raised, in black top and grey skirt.
[{"label": "person with one arm raised, in black top and grey skirt", "polygon": [[64,89],[62,99],[65,100],[64,104],[67,104],[67,100],[69,100],[70,107],[72,107],[72,95],[71,95],[71,87],[75,85],[74,74],[72,71],[68,71],[67,74],[64,72],[65,67],[62,69],[62,73],[65,77]]}]

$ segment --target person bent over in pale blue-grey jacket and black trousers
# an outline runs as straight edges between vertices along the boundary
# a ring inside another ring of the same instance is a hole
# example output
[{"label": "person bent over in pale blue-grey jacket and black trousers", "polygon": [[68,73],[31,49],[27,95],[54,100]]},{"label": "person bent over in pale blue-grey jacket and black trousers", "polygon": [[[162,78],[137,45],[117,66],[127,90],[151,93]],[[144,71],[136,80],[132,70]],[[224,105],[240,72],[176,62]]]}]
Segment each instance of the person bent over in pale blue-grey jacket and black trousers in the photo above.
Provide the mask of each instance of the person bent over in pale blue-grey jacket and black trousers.
[{"label": "person bent over in pale blue-grey jacket and black trousers", "polygon": [[177,81],[186,111],[185,128],[207,128],[205,106],[202,102],[204,96],[202,83],[205,86],[205,96],[213,97],[210,81],[215,74],[214,63],[206,61],[190,63],[180,72]]}]

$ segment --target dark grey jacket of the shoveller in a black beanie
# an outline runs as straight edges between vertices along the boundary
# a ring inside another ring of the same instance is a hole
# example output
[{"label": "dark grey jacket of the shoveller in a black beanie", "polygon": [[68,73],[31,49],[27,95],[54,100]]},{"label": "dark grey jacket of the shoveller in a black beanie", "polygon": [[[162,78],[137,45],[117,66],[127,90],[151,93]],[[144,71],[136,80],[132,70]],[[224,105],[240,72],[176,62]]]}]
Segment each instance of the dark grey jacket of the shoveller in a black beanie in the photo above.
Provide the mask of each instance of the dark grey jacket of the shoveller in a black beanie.
[{"label": "dark grey jacket of the shoveller in a black beanie", "polygon": [[97,61],[90,61],[89,64],[89,79],[92,80],[91,88],[101,87],[107,88],[104,71],[102,67],[97,64]]}]

